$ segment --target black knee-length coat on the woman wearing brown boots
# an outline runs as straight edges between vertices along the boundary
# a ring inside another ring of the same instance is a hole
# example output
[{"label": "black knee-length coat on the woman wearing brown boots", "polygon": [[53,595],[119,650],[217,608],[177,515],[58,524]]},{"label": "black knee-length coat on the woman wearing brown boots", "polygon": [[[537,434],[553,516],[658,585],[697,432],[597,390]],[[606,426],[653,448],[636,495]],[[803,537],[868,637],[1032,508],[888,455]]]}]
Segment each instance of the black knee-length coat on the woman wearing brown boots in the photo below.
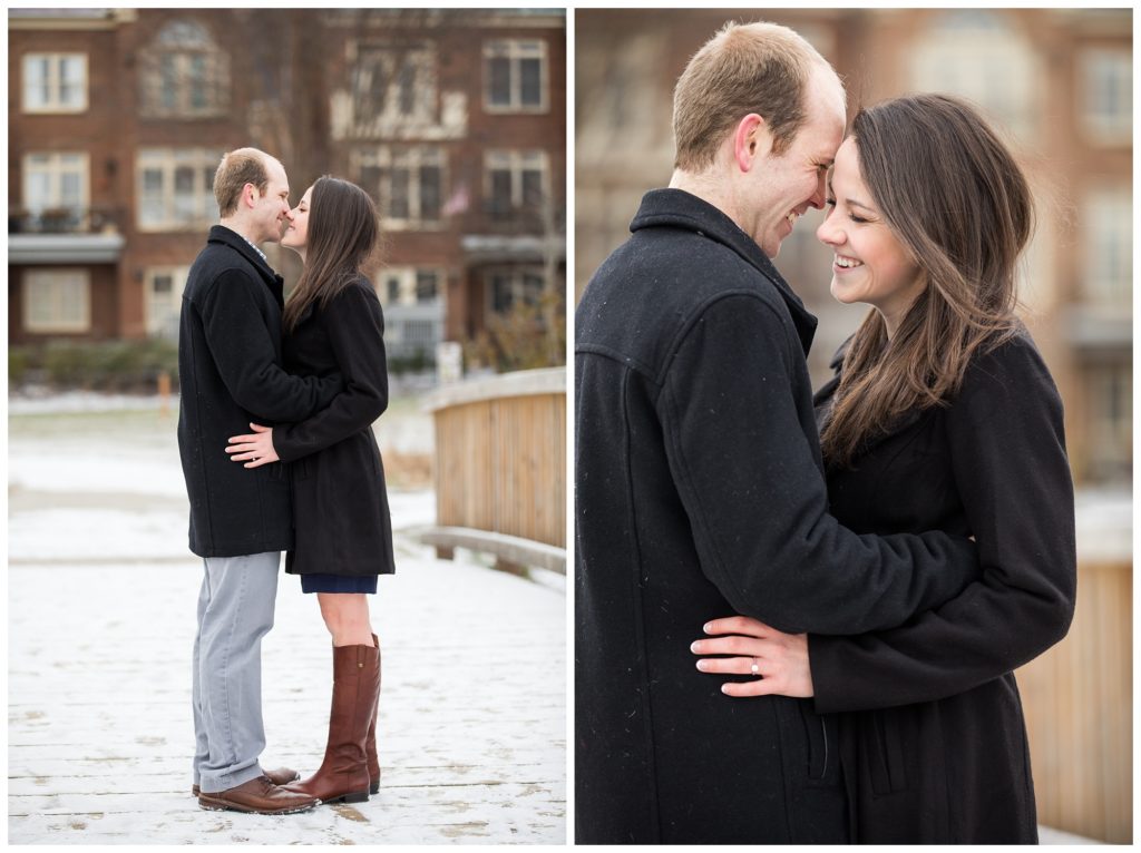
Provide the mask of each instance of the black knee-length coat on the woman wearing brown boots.
[{"label": "black knee-length coat on the woman wearing brown boots", "polygon": [[373,422],[388,407],[385,317],[380,300],[358,278],[310,306],[286,334],[285,368],[300,376],[343,377],[345,390],[300,423],[274,430],[293,487],[294,575],[387,575],[393,523]]}]

